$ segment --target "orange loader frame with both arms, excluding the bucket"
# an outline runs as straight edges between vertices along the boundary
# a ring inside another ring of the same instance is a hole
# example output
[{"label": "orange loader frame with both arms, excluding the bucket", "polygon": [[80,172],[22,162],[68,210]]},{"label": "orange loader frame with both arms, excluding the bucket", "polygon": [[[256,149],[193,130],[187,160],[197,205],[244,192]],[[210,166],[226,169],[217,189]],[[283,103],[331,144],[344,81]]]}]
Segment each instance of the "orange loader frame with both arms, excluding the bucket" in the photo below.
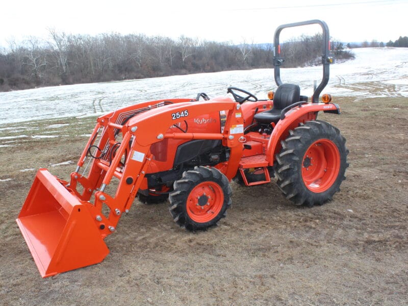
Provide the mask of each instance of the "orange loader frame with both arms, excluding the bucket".
[{"label": "orange loader frame with both arms, excluding the bucket", "polygon": [[[224,146],[231,149],[230,161],[226,163],[224,174],[231,180],[237,172],[243,148],[243,144],[239,140],[240,137],[243,137],[243,119],[239,104],[232,101],[209,103],[207,101],[197,102],[189,100],[187,102],[185,99],[167,99],[153,101],[153,103],[155,103],[154,105],[160,105],[164,101],[171,104],[151,108],[148,112],[132,117],[124,125],[115,123],[118,114],[122,114],[122,111],[118,111],[114,116],[99,117],[98,124],[78,162],[77,170],[71,173],[71,181],[67,186],[74,190],[77,196],[83,201],[89,201],[92,194],[94,195],[94,205],[90,211],[103,237],[108,236],[115,230],[121,214],[129,211],[137,191],[143,187],[143,179],[152,159],[150,146],[156,142],[164,139],[221,140]],[[149,105],[151,106],[152,102],[138,104],[125,111],[136,111]],[[209,111],[228,112],[223,133],[166,133],[169,126],[183,122],[187,117],[194,118]],[[177,114],[187,115],[175,118]],[[153,125],[152,122],[154,121],[160,122],[160,124]],[[98,150],[98,155],[91,162],[89,175],[86,177],[80,174],[80,169],[87,158],[89,147],[93,145],[92,140],[96,139],[100,129],[103,129],[105,133],[103,133],[97,144],[99,148],[116,143],[117,135],[115,135],[114,130],[120,131],[123,139],[110,164],[98,158],[100,154],[100,150]],[[125,166],[120,168],[119,162],[125,155],[126,150],[128,153],[126,155]],[[119,180],[118,188],[114,195],[109,195],[104,191],[111,183],[113,177]],[[76,191],[78,184],[84,187],[82,194]],[[110,210],[108,217],[101,214],[103,205],[106,205]]]}]

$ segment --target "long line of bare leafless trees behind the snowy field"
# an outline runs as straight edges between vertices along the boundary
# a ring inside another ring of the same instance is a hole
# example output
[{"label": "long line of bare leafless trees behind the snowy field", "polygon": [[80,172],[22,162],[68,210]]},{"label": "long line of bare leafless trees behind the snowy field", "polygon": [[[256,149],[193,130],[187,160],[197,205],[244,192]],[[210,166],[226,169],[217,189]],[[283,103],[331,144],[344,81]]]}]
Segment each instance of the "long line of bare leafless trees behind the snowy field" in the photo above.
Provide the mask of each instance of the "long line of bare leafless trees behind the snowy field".
[{"label": "long line of bare leafless trees behind the snowy field", "polygon": [[[314,64],[321,35],[301,36],[285,44],[285,67]],[[343,46],[337,57],[347,54]],[[214,42],[180,36],[144,34],[71,35],[49,30],[49,38],[9,42],[0,50],[0,91],[78,83],[163,77],[175,74],[270,68],[272,44]]]}]

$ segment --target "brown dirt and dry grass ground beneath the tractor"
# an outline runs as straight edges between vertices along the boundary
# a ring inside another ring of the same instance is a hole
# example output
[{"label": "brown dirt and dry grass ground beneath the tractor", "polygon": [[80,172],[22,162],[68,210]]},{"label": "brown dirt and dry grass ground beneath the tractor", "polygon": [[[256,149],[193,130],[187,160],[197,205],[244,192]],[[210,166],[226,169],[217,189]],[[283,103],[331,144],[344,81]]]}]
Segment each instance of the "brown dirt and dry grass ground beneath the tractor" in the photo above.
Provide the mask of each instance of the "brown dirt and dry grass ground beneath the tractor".
[{"label": "brown dirt and dry grass ground beneath the tractor", "polygon": [[135,200],[102,263],[45,279],[15,222],[35,175],[19,170],[67,179],[74,165],[50,164],[76,163],[86,138],[0,147],[0,304],[408,305],[408,99],[336,101],[342,115],[319,117],[350,150],[333,201],[299,208],[274,183],[231,183],[228,216],[189,233],[167,203]]}]

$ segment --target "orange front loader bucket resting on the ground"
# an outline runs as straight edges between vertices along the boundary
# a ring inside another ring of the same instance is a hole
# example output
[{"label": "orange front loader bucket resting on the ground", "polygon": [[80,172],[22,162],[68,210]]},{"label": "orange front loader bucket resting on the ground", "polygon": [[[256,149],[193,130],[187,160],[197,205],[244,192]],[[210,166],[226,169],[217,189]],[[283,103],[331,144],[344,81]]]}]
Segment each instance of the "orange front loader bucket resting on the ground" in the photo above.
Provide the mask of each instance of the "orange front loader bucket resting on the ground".
[{"label": "orange front loader bucket resting on the ground", "polygon": [[87,205],[39,169],[17,218],[42,277],[99,263],[109,253]]}]

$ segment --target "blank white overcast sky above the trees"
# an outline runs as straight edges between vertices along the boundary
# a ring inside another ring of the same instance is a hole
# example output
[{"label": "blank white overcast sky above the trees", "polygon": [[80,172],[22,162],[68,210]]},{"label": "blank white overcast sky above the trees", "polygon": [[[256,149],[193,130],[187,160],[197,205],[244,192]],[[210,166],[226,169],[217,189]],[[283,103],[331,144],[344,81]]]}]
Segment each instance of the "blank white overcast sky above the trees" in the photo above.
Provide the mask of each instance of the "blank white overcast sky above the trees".
[{"label": "blank white overcast sky above the trees", "polygon": [[408,0],[9,0],[0,5],[0,46],[46,38],[47,28],[266,43],[273,42],[277,25],[310,19],[326,21],[339,41],[387,42],[408,36],[407,13]]}]

